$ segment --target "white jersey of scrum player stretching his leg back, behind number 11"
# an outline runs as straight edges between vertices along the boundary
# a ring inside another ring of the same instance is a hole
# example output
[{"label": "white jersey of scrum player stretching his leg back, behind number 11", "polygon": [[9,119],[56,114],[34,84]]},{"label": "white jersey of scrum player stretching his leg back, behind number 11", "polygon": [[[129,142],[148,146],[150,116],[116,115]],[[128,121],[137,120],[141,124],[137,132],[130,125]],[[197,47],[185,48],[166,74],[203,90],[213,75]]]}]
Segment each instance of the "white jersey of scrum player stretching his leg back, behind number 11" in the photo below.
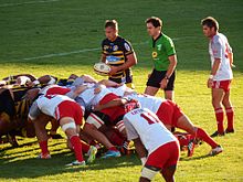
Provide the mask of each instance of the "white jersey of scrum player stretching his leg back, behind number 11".
[{"label": "white jersey of scrum player stretching his leg back, behind number 11", "polygon": [[141,95],[141,94],[131,94],[126,96],[128,99],[136,99],[139,101],[141,105],[141,108],[148,108],[152,113],[157,114],[159,110],[159,107],[166,99],[159,98],[159,97],[154,97],[149,95]]}]

